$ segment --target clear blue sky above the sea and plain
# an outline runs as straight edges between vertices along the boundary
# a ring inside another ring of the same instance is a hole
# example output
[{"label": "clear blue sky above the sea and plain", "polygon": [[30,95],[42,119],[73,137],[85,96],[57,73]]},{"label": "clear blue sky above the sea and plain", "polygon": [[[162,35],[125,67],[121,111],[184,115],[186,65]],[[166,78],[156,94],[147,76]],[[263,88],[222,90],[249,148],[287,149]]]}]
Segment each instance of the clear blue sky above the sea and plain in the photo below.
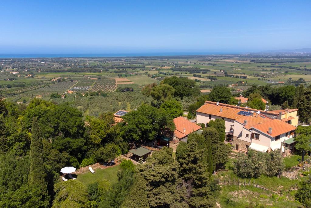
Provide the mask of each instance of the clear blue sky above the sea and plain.
[{"label": "clear blue sky above the sea and plain", "polygon": [[311,48],[311,1],[0,1],[0,53]]}]

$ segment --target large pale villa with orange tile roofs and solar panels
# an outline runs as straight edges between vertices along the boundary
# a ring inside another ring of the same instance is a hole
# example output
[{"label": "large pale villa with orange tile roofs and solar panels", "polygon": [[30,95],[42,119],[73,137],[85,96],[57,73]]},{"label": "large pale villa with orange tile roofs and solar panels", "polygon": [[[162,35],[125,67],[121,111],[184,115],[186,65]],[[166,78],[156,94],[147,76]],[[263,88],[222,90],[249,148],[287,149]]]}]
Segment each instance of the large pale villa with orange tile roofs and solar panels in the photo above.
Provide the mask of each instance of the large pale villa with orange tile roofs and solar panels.
[{"label": "large pale villa with orange tile roofs and solar panels", "polygon": [[[197,109],[197,123],[210,120],[225,120],[225,132],[237,151],[247,152],[248,148],[261,152],[280,149],[281,143],[294,137],[298,125],[298,109],[258,111],[235,105],[206,101]],[[289,143],[289,142],[287,142]],[[282,143],[285,155],[289,147]],[[292,144],[292,143],[291,143]]]}]

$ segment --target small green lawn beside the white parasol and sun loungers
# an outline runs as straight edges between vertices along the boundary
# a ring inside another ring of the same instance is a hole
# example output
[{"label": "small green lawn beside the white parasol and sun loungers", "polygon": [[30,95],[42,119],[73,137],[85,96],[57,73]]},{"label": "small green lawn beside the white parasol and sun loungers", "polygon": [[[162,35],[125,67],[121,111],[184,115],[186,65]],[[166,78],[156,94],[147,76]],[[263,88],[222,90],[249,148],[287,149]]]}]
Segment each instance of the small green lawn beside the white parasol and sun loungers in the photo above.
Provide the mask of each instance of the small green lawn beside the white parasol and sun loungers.
[{"label": "small green lawn beside the white parasol and sun loungers", "polygon": [[107,179],[110,181],[111,184],[114,184],[118,182],[117,172],[119,170],[119,165],[116,165],[114,167],[109,167],[106,169],[95,169],[95,173],[86,172],[79,174],[77,176],[77,180],[84,183],[84,185],[88,185],[90,183],[93,183],[94,181],[101,180],[101,179]]}]

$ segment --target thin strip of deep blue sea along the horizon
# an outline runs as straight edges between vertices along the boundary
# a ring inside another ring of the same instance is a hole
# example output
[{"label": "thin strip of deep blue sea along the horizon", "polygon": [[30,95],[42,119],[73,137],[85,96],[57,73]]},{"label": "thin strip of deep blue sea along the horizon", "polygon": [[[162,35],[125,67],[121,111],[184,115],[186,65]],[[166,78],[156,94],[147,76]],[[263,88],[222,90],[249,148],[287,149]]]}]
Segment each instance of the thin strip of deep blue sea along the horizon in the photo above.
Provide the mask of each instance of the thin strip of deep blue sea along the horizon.
[{"label": "thin strip of deep blue sea along the horizon", "polygon": [[139,56],[195,56],[239,54],[239,52],[157,52],[157,53],[0,53],[0,58],[81,58],[81,57],[139,57]]}]

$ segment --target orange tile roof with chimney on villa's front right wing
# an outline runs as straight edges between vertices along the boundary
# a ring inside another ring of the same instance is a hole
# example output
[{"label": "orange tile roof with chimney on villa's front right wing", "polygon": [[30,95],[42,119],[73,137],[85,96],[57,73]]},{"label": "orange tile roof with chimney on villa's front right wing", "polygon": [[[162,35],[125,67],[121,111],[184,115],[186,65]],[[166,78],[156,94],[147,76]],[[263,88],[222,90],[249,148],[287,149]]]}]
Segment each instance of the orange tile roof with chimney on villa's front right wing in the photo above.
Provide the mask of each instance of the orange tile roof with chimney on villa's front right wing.
[{"label": "orange tile roof with chimney on villa's front right wing", "polygon": [[[272,134],[269,134],[269,127],[272,127]],[[252,128],[255,128],[271,137],[276,137],[278,135],[281,135],[286,132],[294,131],[296,129],[295,126],[285,123],[278,119],[269,120],[264,123],[260,123],[257,125],[252,126]]]}]

